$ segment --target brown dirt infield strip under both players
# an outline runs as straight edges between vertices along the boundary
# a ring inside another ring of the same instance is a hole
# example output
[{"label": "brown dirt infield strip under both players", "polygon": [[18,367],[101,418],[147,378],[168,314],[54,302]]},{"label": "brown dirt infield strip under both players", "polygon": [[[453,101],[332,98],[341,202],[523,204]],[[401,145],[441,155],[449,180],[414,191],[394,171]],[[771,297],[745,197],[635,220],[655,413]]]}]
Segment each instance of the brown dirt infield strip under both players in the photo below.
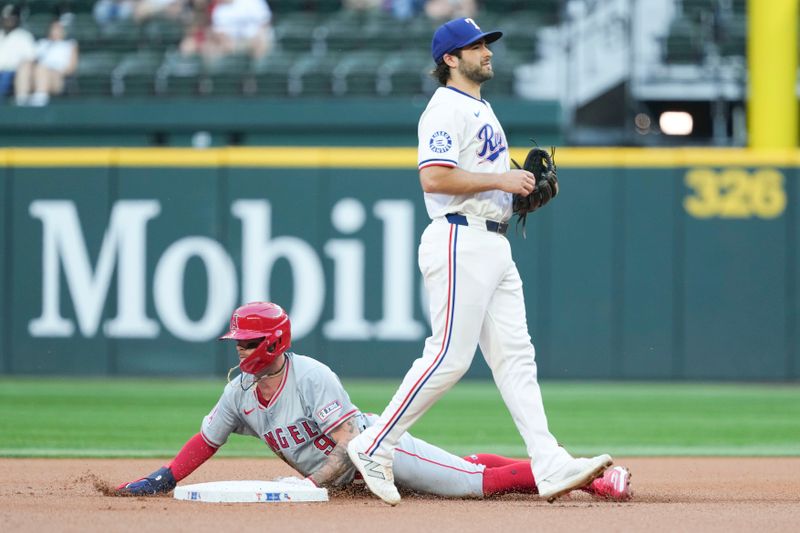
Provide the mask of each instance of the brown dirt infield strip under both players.
[{"label": "brown dirt infield strip under both players", "polygon": [[[528,495],[488,500],[406,496],[389,507],[362,490],[328,503],[212,504],[117,498],[104,488],[158,460],[0,459],[0,529],[25,531],[797,531],[800,458],[633,458],[634,499],[586,494],[548,504]],[[275,459],[212,459],[186,481],[292,475]],[[363,489],[366,490],[366,489]]]}]

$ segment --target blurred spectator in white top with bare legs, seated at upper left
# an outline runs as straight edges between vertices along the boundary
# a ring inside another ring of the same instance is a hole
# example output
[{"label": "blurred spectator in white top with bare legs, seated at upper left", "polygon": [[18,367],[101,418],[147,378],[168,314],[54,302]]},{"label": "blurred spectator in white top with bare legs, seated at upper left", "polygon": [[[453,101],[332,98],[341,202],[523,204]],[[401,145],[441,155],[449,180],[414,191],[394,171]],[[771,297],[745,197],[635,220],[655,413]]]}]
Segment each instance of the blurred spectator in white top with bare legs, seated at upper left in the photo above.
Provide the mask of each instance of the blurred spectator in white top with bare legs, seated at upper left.
[{"label": "blurred spectator in white top with bare legs, seated at upper left", "polygon": [[65,78],[77,67],[78,43],[67,39],[62,18],[57,18],[50,23],[47,37],[36,43],[34,60],[21,64],[17,70],[17,105],[47,105],[50,96],[64,92]]}]

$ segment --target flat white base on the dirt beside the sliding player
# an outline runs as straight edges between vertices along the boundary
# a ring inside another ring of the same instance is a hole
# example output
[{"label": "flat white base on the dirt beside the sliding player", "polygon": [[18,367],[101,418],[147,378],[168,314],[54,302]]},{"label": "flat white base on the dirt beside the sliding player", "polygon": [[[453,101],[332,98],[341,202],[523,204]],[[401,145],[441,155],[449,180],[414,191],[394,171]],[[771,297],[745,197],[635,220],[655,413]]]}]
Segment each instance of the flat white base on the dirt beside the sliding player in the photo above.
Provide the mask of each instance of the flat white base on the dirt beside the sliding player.
[{"label": "flat white base on the dirt beside the sliding player", "polygon": [[236,503],[326,502],[328,490],[282,481],[212,481],[175,487],[176,500]]}]

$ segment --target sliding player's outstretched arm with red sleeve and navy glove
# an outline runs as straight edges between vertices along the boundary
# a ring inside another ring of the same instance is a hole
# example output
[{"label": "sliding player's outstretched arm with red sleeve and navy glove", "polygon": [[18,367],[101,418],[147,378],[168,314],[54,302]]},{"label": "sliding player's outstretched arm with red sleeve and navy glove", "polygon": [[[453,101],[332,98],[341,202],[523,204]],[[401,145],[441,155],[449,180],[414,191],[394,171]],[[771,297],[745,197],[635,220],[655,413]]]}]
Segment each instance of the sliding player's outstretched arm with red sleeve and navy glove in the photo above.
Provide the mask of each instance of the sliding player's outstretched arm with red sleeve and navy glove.
[{"label": "sliding player's outstretched arm with red sleeve and navy glove", "polygon": [[174,489],[178,481],[211,458],[218,449],[206,442],[203,435],[198,433],[183,445],[181,451],[168,465],[143,478],[121,484],[117,487],[117,494],[123,496],[165,494]]}]

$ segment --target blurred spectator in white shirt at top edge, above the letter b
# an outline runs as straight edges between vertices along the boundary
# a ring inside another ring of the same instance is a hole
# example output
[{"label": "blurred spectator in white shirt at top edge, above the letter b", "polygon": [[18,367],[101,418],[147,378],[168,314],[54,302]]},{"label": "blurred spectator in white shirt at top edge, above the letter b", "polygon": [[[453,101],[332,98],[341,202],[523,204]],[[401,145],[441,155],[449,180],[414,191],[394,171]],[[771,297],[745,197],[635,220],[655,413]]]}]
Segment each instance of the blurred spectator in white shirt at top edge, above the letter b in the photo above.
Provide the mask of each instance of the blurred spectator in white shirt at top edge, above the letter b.
[{"label": "blurred spectator in white shirt at top edge, above the letter b", "polygon": [[239,53],[258,59],[269,53],[274,40],[266,0],[217,0],[201,53],[206,60]]}]

